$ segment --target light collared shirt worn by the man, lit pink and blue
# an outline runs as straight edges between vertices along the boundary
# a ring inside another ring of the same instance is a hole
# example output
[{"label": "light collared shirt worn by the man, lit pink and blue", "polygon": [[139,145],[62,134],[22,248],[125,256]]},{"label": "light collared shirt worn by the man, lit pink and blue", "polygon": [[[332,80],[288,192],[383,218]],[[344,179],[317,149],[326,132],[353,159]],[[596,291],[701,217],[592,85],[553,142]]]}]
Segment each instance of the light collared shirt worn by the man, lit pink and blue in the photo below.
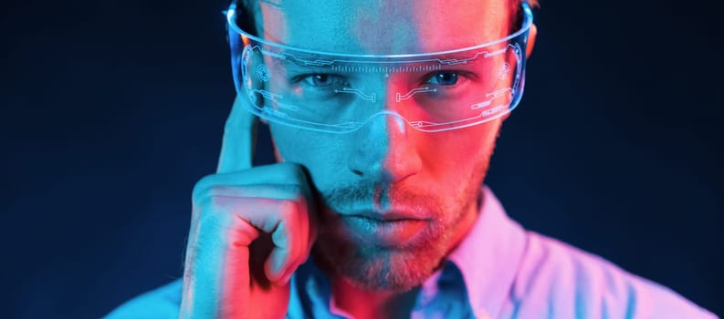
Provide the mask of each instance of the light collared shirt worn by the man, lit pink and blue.
[{"label": "light collared shirt worn by the man, lit pink and blue", "polygon": [[[413,318],[716,318],[601,257],[524,230],[488,187],[481,191],[477,221],[422,284]],[[169,283],[107,318],[176,318],[181,289],[181,280]],[[349,317],[313,262],[294,273],[291,289],[289,318]]]}]

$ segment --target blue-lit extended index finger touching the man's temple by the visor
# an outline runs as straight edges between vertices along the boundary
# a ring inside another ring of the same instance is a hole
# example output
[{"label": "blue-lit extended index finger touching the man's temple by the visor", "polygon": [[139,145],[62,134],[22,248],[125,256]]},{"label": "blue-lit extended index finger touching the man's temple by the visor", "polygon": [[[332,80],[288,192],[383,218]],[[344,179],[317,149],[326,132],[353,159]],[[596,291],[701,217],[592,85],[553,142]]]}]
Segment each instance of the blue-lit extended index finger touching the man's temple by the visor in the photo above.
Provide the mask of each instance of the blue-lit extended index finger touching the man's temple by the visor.
[{"label": "blue-lit extended index finger touching the man's temple by the visor", "polygon": [[217,173],[248,170],[252,167],[259,120],[248,111],[245,103],[249,103],[248,99],[237,95],[229,118],[226,118]]}]

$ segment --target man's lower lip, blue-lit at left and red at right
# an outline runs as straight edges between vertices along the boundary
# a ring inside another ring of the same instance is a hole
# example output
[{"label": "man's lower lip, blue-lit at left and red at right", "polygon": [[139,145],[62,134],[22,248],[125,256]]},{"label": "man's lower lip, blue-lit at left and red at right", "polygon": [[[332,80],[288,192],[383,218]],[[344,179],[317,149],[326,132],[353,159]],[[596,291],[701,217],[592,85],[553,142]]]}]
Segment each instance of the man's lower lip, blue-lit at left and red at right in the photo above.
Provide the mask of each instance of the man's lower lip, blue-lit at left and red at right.
[{"label": "man's lower lip, blue-lit at left and red at right", "polygon": [[363,241],[374,241],[382,245],[399,245],[410,242],[423,231],[423,220],[382,221],[357,215],[344,216],[342,221]]}]

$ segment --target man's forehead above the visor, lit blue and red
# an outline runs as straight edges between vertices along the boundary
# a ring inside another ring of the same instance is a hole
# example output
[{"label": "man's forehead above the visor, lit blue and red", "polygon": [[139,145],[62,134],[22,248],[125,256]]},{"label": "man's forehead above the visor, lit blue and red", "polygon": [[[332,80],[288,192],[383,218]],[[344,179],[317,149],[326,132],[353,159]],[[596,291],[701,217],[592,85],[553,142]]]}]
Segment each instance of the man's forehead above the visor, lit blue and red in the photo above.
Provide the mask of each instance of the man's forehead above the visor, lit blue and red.
[{"label": "man's forehead above the visor, lit blue and red", "polygon": [[405,54],[507,36],[509,0],[259,1],[264,37],[312,50]]}]

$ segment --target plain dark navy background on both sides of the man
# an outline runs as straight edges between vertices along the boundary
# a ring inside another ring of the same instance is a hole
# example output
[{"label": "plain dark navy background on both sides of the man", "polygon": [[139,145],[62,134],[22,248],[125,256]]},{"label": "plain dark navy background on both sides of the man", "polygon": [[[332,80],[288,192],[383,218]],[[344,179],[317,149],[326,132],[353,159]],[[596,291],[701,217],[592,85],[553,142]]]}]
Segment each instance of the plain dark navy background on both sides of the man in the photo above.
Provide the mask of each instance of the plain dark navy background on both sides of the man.
[{"label": "plain dark navy background on both sides of the man", "polygon": [[[0,317],[95,318],[181,275],[235,95],[226,5],[3,3]],[[531,230],[722,316],[721,5],[541,5],[487,183]]]}]

